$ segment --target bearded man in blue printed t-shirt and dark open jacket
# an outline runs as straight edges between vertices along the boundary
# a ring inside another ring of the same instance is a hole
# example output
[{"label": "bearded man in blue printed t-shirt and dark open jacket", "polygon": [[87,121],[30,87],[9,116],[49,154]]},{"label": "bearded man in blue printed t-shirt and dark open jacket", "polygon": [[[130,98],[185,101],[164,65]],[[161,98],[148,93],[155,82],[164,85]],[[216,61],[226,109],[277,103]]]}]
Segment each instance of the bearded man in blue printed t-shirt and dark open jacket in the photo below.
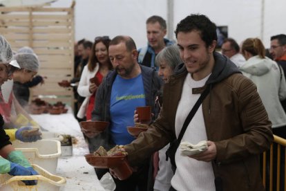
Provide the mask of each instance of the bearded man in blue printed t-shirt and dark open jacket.
[{"label": "bearded man in blue printed t-shirt and dark open jacket", "polygon": [[[108,48],[114,71],[108,73],[97,89],[93,120],[110,122],[101,134],[95,136],[95,145],[110,149],[115,145],[126,145],[135,138],[126,127],[134,126],[136,107],[151,106],[154,113],[155,97],[162,80],[154,69],[137,62],[137,49],[131,37],[117,36]],[[146,190],[149,161],[138,167],[130,178],[115,179],[116,190]],[[99,179],[102,170],[97,170]]]}]

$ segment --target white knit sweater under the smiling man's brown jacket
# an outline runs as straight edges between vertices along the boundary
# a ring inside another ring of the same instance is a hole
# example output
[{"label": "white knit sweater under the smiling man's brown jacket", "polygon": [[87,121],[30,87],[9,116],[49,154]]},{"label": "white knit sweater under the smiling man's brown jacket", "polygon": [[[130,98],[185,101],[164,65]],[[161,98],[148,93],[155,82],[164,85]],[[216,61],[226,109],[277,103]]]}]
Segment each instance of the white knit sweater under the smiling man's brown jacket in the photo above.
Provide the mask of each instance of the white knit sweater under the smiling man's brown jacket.
[{"label": "white knit sweater under the smiling man's brown jacket", "polygon": [[[191,74],[189,73],[184,80],[182,96],[175,116],[175,134],[177,137],[180,134],[184,120],[186,120],[193,105],[200,97],[200,94],[192,94],[192,89],[203,87],[208,78],[209,76],[202,80],[195,81],[191,78]],[[188,141],[193,144],[197,144],[200,140],[207,140],[207,132],[202,115],[202,105],[200,105],[195,116],[193,116],[193,119],[189,123],[182,138],[182,141]],[[177,170],[171,180],[171,185],[175,190],[216,190],[213,168],[210,162],[206,163],[189,158],[188,156],[181,156],[180,150],[178,149],[175,154],[175,163],[177,165]]]}]

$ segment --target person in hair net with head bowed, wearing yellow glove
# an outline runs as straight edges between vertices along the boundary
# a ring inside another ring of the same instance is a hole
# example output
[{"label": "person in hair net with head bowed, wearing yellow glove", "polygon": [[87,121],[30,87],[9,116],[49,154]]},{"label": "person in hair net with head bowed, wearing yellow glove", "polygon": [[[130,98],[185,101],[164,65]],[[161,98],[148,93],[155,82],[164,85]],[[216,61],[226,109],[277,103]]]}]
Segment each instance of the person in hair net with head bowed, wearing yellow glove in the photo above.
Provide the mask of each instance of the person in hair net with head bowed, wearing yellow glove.
[{"label": "person in hair net with head bowed, wearing yellow glove", "polygon": [[[32,77],[37,73],[39,69],[39,61],[37,55],[31,53],[31,48],[21,48],[21,51],[16,53],[15,59],[21,69],[18,69],[12,73],[12,79],[5,82],[1,85],[1,94],[0,100],[3,104],[0,104],[0,107],[4,111],[2,116],[5,129],[10,129],[11,127],[21,127],[20,129],[12,129],[10,132],[6,131],[10,138],[13,140],[15,138],[23,142],[32,142],[41,139],[41,132],[39,131],[39,125],[37,122],[32,120],[30,115],[21,107],[18,100],[15,98],[12,87],[15,82],[29,82],[32,80]],[[31,50],[32,51],[32,50]],[[0,108],[0,111],[1,111]],[[30,134],[30,136],[23,137],[22,131],[31,130],[32,127],[36,127],[38,131],[35,131]]]}]

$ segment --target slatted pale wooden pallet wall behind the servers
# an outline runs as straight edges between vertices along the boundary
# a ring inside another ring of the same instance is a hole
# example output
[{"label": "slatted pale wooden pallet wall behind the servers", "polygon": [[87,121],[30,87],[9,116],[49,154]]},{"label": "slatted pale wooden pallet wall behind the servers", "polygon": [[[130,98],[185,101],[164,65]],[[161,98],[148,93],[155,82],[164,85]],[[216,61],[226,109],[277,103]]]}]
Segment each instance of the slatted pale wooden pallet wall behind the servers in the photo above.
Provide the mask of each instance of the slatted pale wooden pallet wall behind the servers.
[{"label": "slatted pale wooden pallet wall behind the servers", "polygon": [[44,85],[32,88],[31,99],[62,101],[73,107],[73,89],[57,82],[70,80],[74,71],[74,5],[71,8],[0,8],[0,34],[17,51],[30,46],[39,57]]}]

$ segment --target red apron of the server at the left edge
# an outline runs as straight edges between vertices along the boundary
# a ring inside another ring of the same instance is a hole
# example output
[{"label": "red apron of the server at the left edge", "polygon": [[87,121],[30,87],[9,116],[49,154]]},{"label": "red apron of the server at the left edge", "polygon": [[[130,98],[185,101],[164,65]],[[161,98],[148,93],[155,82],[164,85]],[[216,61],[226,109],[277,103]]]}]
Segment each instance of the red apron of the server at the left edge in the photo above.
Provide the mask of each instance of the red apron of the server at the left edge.
[{"label": "red apron of the server at the left edge", "polygon": [[5,102],[2,92],[0,91],[0,114],[3,117],[3,120],[5,123],[9,123],[10,116],[11,116],[11,107],[12,107],[12,101],[13,101],[13,93],[11,91],[8,103]]}]

